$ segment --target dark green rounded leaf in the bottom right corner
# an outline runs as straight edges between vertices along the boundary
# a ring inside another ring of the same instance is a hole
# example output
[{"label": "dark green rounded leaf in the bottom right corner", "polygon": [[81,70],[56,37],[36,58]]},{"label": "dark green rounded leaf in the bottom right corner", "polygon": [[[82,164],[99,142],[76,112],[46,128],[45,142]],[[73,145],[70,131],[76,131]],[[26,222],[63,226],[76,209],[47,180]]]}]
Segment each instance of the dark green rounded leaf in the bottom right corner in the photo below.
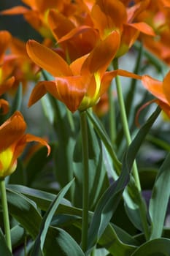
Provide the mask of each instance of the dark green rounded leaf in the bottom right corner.
[{"label": "dark green rounded leaf in the bottom right corner", "polygon": [[153,239],[139,246],[131,256],[168,256],[169,248],[170,239]]}]

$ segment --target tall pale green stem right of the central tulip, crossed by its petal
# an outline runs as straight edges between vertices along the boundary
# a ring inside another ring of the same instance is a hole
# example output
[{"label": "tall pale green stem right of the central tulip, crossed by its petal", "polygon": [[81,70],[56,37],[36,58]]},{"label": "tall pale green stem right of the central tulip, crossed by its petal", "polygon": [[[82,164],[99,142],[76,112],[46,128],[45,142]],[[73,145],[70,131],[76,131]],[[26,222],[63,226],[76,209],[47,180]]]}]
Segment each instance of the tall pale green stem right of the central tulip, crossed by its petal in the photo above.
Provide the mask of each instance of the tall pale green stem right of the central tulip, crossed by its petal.
[{"label": "tall pale green stem right of the central tulip, crossed by its petal", "polygon": [[[114,60],[114,68],[118,69],[117,59]],[[130,135],[130,131],[128,128],[128,119],[127,119],[127,116],[125,113],[125,103],[124,103],[124,99],[123,99],[123,91],[122,91],[122,86],[120,83],[120,77],[117,76],[115,78],[115,81],[116,81],[117,97],[118,97],[118,101],[119,101],[119,105],[120,105],[120,116],[122,119],[123,131],[125,133],[126,142],[129,146],[131,144],[131,135]],[[141,191],[141,184],[140,184],[140,180],[139,180],[139,174],[138,174],[136,162],[134,162],[134,165],[133,165],[133,175],[134,175],[134,179],[136,182],[136,187],[139,189],[139,191]]]}]

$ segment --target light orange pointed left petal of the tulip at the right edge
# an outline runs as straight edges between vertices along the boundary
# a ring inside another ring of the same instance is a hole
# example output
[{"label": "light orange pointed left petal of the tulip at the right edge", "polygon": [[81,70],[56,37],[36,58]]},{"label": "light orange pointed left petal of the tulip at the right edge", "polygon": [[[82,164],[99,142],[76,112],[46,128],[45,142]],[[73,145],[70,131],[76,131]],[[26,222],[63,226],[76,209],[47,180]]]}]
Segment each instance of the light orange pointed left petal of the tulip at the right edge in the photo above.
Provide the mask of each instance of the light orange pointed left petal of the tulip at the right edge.
[{"label": "light orange pointed left petal of the tulip at the right edge", "polygon": [[162,102],[168,104],[168,100],[163,91],[163,83],[161,81],[151,78],[149,75],[142,75],[142,84],[151,94]]}]

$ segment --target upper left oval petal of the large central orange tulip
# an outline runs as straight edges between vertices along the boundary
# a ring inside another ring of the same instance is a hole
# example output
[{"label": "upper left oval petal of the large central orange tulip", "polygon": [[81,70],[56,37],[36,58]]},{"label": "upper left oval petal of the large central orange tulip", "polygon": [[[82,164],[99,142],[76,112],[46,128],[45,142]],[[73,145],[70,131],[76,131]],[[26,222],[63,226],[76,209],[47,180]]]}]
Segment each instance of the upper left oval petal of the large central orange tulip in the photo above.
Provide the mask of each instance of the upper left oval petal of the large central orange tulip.
[{"label": "upper left oval petal of the large central orange tulip", "polygon": [[26,43],[28,56],[43,69],[50,72],[54,77],[62,77],[72,75],[69,65],[64,61],[58,53],[55,53],[45,45],[41,45],[34,40],[28,40]]}]

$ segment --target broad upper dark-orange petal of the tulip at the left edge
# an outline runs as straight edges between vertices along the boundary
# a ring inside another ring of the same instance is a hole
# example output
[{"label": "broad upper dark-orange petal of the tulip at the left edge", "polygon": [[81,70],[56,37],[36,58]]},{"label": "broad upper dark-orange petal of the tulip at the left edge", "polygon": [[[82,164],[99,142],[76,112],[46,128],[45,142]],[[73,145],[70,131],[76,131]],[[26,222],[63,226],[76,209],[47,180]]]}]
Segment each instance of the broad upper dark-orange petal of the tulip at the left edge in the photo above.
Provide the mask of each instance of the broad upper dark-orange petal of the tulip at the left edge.
[{"label": "broad upper dark-orange petal of the tulip at the left edge", "polygon": [[16,111],[0,126],[0,152],[18,141],[26,131],[26,122],[22,114]]}]

